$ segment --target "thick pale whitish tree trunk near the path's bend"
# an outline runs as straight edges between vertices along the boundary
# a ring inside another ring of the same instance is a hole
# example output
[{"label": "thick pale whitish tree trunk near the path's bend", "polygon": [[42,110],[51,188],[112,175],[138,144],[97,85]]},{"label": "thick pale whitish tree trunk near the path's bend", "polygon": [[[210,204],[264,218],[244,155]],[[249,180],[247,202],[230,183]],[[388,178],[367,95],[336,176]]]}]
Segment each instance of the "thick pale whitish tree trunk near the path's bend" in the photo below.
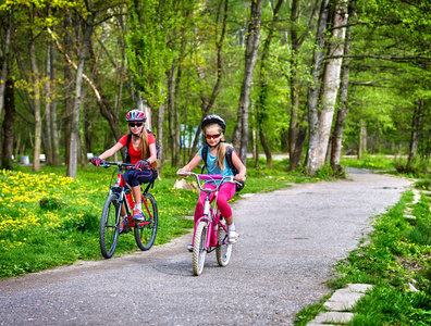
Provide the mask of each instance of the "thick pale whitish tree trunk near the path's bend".
[{"label": "thick pale whitish tree trunk near the path's bend", "polygon": [[[345,2],[345,0],[343,1]],[[334,8],[331,45],[329,47],[329,57],[343,55],[345,28],[338,28],[346,25],[347,13],[345,3],[337,3]],[[324,67],[323,85],[320,95],[320,112],[319,112],[319,165],[324,165],[330,140],[332,120],[335,110],[336,96],[340,87],[340,73],[343,59],[331,59]]]}]

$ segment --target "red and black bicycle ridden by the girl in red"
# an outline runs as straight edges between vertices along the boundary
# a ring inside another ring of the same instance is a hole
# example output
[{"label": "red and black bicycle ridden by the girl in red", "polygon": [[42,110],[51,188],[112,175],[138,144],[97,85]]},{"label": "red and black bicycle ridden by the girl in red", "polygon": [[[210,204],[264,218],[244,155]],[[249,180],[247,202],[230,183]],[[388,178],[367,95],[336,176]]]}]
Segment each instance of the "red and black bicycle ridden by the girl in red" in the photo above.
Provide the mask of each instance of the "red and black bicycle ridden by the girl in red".
[{"label": "red and black bicycle ridden by the girl in red", "polygon": [[[100,250],[106,259],[110,259],[116,249],[120,237],[120,227],[134,229],[136,244],[140,250],[149,250],[156,240],[159,213],[155,197],[148,192],[153,187],[152,180],[141,192],[143,213],[145,221],[134,223],[132,220],[135,203],[132,198],[131,187],[124,181],[123,173],[126,168],[133,168],[134,164],[101,162],[100,166],[114,167],[118,171],[116,181],[110,187],[109,195],[104,201],[100,218]],[[121,211],[124,206],[127,218],[122,221]],[[123,225],[122,225],[123,224]]]}]

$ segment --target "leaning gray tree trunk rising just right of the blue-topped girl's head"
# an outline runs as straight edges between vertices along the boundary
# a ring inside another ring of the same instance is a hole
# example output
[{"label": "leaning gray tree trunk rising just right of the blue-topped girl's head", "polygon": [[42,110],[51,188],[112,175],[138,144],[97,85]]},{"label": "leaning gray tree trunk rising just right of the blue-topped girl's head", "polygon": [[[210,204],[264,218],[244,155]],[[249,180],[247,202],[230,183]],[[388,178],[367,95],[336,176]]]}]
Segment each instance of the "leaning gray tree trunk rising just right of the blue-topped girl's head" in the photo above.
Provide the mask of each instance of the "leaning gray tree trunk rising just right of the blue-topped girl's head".
[{"label": "leaning gray tree trunk rising just right of the blue-topped girl's head", "polygon": [[[241,143],[239,156],[244,164],[247,162],[248,149],[248,110],[250,105],[250,92],[253,73],[255,71],[256,58],[260,41],[260,18],[261,18],[261,0],[251,0],[250,21],[248,24],[247,46],[245,50],[245,68],[244,78],[241,86],[241,96],[238,101],[238,114],[234,133],[234,145]],[[241,141],[238,140],[241,137]]]}]

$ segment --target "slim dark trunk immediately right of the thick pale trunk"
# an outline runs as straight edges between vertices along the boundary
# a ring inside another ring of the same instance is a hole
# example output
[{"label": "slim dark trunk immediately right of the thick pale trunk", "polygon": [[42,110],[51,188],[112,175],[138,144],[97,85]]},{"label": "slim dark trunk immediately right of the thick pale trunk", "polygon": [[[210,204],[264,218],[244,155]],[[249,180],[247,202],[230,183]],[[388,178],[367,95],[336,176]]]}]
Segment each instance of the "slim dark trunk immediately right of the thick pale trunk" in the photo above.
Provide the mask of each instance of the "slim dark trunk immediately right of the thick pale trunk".
[{"label": "slim dark trunk immediately right of the thick pale trunk", "polygon": [[[355,2],[352,1],[348,4],[348,21],[354,15]],[[350,54],[350,42],[352,42],[352,26],[346,29],[346,38],[344,40],[344,55]],[[333,170],[340,167],[341,151],[343,145],[343,130],[344,121],[348,114],[348,77],[350,74],[350,60],[345,59],[342,67],[342,79],[340,87],[340,109],[336,114],[336,121],[334,130],[332,134],[332,150],[331,150],[331,166]]]}]

